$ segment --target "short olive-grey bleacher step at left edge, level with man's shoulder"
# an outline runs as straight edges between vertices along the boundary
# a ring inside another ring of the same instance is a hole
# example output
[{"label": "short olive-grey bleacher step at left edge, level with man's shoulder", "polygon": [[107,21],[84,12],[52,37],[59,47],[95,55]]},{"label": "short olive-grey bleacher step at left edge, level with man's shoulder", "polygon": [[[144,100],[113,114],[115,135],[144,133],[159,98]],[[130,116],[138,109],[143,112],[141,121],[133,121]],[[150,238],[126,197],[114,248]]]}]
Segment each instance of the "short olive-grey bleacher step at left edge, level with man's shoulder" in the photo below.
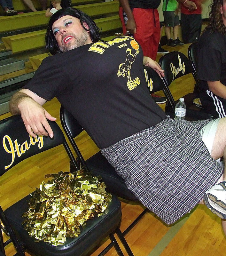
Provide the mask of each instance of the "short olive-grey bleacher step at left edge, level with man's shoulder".
[{"label": "short olive-grey bleacher step at left edge, level with man's shoulder", "polygon": [[20,69],[24,69],[24,61],[23,60],[16,60],[13,58],[0,60],[0,76],[18,71]]}]

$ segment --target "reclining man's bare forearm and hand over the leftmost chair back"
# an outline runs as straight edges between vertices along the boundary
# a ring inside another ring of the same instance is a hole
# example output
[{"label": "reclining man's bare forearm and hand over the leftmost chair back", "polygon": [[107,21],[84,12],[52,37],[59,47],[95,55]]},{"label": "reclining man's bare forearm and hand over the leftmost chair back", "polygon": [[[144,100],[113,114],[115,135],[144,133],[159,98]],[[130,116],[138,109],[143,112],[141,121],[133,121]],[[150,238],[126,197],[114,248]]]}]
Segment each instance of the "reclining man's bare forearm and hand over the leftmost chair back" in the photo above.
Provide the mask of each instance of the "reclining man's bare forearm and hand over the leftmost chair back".
[{"label": "reclining man's bare forearm and hand over the leftmost chair back", "polygon": [[51,138],[53,137],[47,119],[56,121],[56,118],[42,107],[45,102],[45,99],[28,89],[16,92],[10,100],[10,112],[12,115],[21,115],[26,130],[32,137],[36,137],[35,133],[45,136],[49,134]]}]

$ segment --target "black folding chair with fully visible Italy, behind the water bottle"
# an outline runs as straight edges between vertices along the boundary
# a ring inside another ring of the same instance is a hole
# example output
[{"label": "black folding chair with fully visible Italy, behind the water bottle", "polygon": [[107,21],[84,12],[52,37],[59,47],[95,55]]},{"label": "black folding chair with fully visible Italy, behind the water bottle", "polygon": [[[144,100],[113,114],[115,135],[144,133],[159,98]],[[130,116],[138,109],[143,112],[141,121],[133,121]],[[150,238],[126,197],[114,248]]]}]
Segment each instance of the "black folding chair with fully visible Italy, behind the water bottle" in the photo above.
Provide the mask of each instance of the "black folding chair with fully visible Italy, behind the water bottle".
[{"label": "black folding chair with fully visible Italy, behind the water bottle", "polygon": [[[169,90],[169,86],[177,78],[192,73],[192,66],[188,58],[181,52],[169,52],[160,58],[159,64],[161,68],[164,69],[165,74],[163,77],[164,91],[168,100],[165,111],[174,113],[178,100],[174,100]],[[177,83],[177,86],[181,87],[181,91],[183,93],[182,84]],[[195,92],[188,93],[181,97],[184,98],[184,102],[187,107],[185,117],[187,120],[195,121],[215,118],[213,115],[205,112],[203,108],[200,108],[193,103],[193,100],[198,98],[198,95]]]}]

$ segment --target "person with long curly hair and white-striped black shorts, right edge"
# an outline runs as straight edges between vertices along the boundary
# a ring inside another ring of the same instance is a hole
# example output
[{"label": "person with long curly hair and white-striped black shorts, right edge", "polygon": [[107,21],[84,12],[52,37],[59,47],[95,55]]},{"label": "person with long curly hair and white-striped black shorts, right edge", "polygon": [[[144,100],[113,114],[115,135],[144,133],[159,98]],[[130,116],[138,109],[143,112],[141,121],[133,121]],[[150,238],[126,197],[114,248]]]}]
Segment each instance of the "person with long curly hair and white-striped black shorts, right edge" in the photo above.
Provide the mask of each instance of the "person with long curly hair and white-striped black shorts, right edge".
[{"label": "person with long curly hair and white-striped black shorts, right edge", "polygon": [[225,0],[214,0],[209,25],[197,46],[199,97],[206,111],[220,118],[226,117],[225,6]]}]

